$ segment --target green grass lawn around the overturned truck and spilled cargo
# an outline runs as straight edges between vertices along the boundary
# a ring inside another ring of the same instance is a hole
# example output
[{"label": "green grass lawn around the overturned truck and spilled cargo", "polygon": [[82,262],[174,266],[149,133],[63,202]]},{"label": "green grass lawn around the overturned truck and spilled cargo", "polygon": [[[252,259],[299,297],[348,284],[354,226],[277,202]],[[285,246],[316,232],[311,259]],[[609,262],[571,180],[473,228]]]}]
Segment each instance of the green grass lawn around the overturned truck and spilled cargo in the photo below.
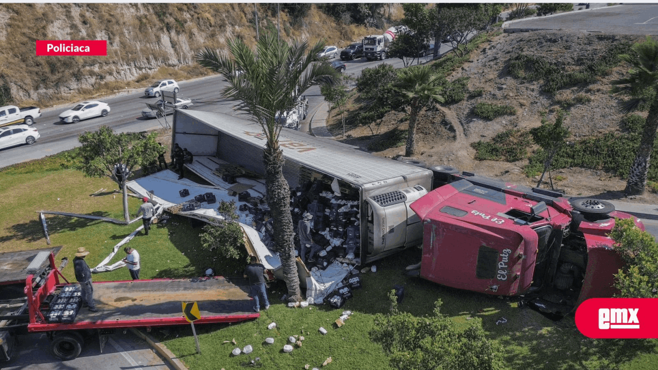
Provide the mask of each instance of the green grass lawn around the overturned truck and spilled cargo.
[{"label": "green grass lawn around the overturned truck and spilled cargo", "polygon": [[[61,156],[54,156],[0,170],[0,251],[47,247],[36,213],[39,210],[123,218],[120,193],[114,193],[116,184],[109,179],[83,177],[62,164]],[[100,189],[106,190],[91,197]],[[131,216],[139,204],[138,199],[129,198]],[[47,223],[51,246],[63,246],[57,259],[72,259],[74,251],[84,246],[91,251],[87,258],[90,266],[103,260],[114,244],[141,224],[115,225],[64,216],[47,216]],[[213,263],[211,254],[200,248],[200,232],[195,223],[174,216],[164,225],[153,225],[148,236],[136,236],[129,245],[141,255],[142,279],[198,276],[208,266],[221,271],[221,263]],[[118,252],[113,262],[124,256]],[[418,317],[431,315],[434,302],[440,298],[442,313],[460,327],[482,325],[490,338],[502,344],[509,369],[658,369],[656,340],[593,340],[578,333],[572,317],[556,323],[528,308],[517,308],[513,300],[449,289],[402,275],[404,267],[419,258],[417,250],[407,250],[376,262],[377,271],[362,274],[363,288],[355,290],[354,298],[340,310],[328,306],[288,308],[279,299],[285,293],[284,284],[274,283],[268,290],[272,307],[262,311],[259,319],[232,325],[197,325],[201,354],[196,354],[188,326],[155,329],[153,335],[193,370],[239,369],[257,357],[263,369],[303,369],[306,364],[319,368],[329,357],[332,363],[326,366],[328,369],[390,369],[386,354],[370,340],[369,332],[374,315],[389,312],[386,294],[399,284],[405,286],[399,310]],[[225,272],[232,275],[231,271]],[[63,273],[73,279],[71,264]],[[130,275],[127,269],[118,269],[94,275],[93,279],[126,280]],[[343,327],[336,328],[334,321],[343,310],[351,310],[353,315]],[[507,323],[496,325],[500,317],[505,317]],[[276,329],[267,329],[271,322],[277,324]],[[320,334],[319,327],[328,333]],[[303,335],[305,340],[301,348],[287,354],[282,348],[291,335]],[[275,339],[274,344],[265,343],[268,336]],[[253,352],[231,356],[236,348],[230,342],[233,339],[240,348],[251,344]]]}]

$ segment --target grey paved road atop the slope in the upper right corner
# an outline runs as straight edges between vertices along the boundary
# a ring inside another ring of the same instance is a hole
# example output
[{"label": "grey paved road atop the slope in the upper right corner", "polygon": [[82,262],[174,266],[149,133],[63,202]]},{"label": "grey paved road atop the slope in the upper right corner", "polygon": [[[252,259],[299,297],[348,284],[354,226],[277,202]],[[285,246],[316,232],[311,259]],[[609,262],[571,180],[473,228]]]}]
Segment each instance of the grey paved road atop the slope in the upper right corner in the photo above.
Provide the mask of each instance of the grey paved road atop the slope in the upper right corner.
[{"label": "grey paved road atop the slope in the upper right corner", "polygon": [[[578,7],[574,7],[577,9]],[[503,25],[511,30],[582,30],[619,35],[658,35],[658,5],[624,4],[595,7],[551,16],[512,20]]]}]

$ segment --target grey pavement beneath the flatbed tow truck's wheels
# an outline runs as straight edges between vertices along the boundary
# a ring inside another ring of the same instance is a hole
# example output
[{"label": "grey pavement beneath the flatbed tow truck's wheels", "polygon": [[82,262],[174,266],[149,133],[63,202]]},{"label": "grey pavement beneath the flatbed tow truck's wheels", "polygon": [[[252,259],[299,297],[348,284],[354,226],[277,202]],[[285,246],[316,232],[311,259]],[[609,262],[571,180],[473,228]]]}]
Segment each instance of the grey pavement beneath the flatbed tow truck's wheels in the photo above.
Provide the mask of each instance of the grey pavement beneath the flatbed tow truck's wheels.
[{"label": "grey pavement beneath the flatbed tow truck's wheels", "polygon": [[71,361],[59,361],[50,354],[49,340],[44,333],[20,336],[13,358],[0,362],[5,370],[51,369],[103,369],[103,370],[169,370],[166,361],[159,358],[149,345],[127,334],[110,336],[101,354],[98,340],[89,340],[82,348],[80,357]]}]

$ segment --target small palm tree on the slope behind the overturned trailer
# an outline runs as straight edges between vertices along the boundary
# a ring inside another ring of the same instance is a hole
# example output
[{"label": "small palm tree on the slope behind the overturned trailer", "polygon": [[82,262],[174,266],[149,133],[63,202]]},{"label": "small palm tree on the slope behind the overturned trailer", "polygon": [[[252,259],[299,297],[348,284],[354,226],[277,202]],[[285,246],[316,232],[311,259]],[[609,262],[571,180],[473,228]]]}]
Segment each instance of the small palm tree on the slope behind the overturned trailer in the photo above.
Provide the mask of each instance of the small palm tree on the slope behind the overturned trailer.
[{"label": "small palm tree on the slope behind the overturned trailer", "polygon": [[442,78],[427,65],[404,68],[398,72],[395,91],[404,99],[405,106],[409,107],[405,156],[413,156],[416,152],[416,118],[420,110],[432,102],[443,103],[443,97],[439,95],[443,90],[440,85]]}]

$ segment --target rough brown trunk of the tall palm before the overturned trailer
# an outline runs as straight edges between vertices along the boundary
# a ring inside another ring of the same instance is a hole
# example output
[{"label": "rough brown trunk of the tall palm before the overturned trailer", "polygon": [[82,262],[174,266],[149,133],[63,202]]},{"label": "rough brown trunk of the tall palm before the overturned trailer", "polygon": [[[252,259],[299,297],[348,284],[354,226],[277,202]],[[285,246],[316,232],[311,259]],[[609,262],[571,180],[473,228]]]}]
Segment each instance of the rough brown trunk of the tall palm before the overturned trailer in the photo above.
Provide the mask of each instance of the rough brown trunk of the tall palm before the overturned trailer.
[{"label": "rough brown trunk of the tall palm before the overturned trailer", "polygon": [[267,204],[270,206],[272,218],[276,220],[274,226],[274,243],[279,252],[281,266],[284,271],[284,281],[288,288],[290,302],[301,301],[299,289],[299,275],[297,275],[297,261],[295,246],[293,244],[292,215],[290,214],[290,187],[283,172],[283,152],[278,142],[267,143],[265,149],[265,166],[267,188]]}]

